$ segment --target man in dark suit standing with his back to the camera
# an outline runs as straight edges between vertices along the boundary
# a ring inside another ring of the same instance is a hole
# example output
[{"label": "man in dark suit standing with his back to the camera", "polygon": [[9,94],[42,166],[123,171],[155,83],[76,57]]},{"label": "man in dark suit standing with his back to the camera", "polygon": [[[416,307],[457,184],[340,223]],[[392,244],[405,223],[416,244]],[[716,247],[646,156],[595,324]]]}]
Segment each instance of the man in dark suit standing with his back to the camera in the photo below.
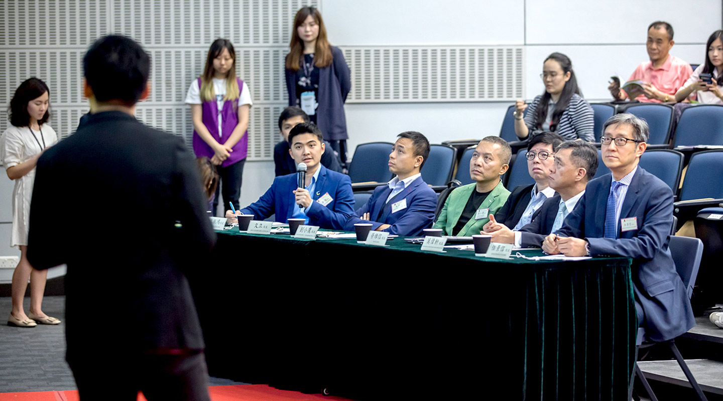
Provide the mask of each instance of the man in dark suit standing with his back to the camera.
[{"label": "man in dark suit standing with his back to the camera", "polygon": [[68,265],[66,358],[80,399],[209,400],[187,276],[215,234],[194,156],[134,118],[149,92],[139,44],[100,38],[83,71],[91,114],[38,160],[27,255],[35,268]]}]

